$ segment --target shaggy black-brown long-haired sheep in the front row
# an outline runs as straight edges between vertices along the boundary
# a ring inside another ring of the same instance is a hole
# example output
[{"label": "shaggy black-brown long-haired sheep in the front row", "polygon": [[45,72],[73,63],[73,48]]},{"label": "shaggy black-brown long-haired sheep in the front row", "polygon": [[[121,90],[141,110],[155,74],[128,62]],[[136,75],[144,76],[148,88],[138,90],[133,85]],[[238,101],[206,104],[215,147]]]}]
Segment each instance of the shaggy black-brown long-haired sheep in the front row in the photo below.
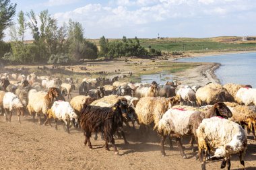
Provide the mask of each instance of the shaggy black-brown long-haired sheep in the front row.
[{"label": "shaggy black-brown long-haired sheep in the front row", "polygon": [[[85,105],[80,122],[80,126],[84,130],[84,136],[86,136],[84,145],[88,142],[89,148],[92,149],[92,144],[90,142],[92,132],[98,132],[98,130],[103,129],[106,150],[109,151],[109,141],[114,147],[115,154],[119,154],[113,134],[115,134],[117,128],[123,127],[123,118],[127,117],[127,106],[126,99],[119,99],[112,108],[100,108],[97,106]],[[127,143],[125,134],[123,131],[121,132],[125,139],[125,143]]]}]

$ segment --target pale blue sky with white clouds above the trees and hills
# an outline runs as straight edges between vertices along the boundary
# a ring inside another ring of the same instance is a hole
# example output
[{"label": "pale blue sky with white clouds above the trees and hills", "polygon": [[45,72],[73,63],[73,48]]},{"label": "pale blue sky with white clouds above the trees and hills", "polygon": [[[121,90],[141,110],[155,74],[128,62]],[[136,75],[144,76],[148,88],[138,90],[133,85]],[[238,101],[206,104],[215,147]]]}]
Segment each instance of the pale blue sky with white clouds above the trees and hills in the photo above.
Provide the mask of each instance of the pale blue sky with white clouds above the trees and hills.
[{"label": "pale blue sky with white clouds above the trees and hills", "polygon": [[[59,26],[80,22],[86,38],[256,36],[256,0],[11,0],[48,9]],[[16,19],[15,19],[16,20]],[[31,40],[30,30],[26,40]],[[5,40],[9,40],[6,32]]]}]

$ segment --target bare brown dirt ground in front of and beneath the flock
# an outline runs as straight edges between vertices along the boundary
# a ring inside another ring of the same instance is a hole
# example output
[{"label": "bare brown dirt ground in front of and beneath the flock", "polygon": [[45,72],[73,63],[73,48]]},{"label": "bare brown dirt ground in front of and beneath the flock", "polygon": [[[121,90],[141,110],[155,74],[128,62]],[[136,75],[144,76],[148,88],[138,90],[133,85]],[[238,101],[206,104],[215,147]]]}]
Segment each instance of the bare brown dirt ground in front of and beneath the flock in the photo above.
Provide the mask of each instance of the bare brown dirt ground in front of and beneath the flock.
[{"label": "bare brown dirt ground in front of and beneath the flock", "polygon": [[[174,140],[174,149],[170,151],[166,144],[166,157],[162,157],[156,132],[146,139],[136,126],[134,131],[126,132],[129,144],[116,138],[119,155],[115,155],[111,144],[110,151],[104,149],[100,136],[98,140],[91,138],[90,150],[84,146],[82,132],[73,127],[67,134],[60,123],[55,130],[53,122],[53,127],[34,125],[31,116],[21,121],[19,124],[16,114],[11,123],[0,116],[0,169],[201,169],[189,148],[188,136],[183,138],[188,159],[181,157]],[[237,156],[232,157],[231,164],[231,169],[241,168]],[[247,170],[256,169],[256,141],[251,135],[245,165]],[[220,161],[207,162],[207,169],[220,169]]]}]

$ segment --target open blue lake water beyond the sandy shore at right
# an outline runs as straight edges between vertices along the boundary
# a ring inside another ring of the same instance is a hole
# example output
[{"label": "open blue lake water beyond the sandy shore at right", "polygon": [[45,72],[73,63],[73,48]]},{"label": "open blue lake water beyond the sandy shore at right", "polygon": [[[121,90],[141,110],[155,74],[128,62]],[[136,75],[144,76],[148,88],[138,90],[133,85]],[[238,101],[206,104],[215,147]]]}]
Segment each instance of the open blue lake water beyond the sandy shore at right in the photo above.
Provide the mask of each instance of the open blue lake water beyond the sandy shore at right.
[{"label": "open blue lake water beyond the sandy shore at right", "polygon": [[215,73],[222,84],[249,84],[256,87],[256,53],[184,58],[178,61],[219,62],[221,66]]}]

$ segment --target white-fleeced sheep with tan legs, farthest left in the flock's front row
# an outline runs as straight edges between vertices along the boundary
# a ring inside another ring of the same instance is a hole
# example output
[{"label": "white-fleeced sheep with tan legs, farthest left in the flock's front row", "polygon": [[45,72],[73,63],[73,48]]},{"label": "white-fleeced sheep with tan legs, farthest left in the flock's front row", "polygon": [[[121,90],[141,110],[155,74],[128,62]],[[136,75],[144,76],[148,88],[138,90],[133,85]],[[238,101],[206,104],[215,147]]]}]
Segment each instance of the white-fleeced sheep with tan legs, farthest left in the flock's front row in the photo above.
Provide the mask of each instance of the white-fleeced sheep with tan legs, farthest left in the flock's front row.
[{"label": "white-fleeced sheep with tan legs, farthest left in the flock's front row", "polygon": [[[18,121],[20,122],[20,115],[24,116],[24,105],[17,95],[7,92],[3,96],[3,108],[5,109],[6,121],[11,122],[12,110],[17,109]],[[21,122],[20,122],[21,123]]]}]

